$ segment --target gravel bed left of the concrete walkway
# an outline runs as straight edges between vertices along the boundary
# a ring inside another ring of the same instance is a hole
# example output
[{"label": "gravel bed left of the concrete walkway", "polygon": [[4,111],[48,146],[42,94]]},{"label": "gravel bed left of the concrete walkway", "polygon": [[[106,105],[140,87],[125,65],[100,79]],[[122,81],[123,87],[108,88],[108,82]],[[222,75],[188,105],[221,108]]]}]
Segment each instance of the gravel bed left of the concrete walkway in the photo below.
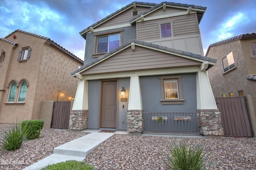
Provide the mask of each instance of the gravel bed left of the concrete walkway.
[{"label": "gravel bed left of the concrete walkway", "polygon": [[[2,133],[0,126],[0,133]],[[42,129],[38,139],[25,141],[18,150],[7,151],[0,148],[0,170],[22,170],[27,166],[53,154],[53,149],[77,139],[87,133],[70,130]]]}]

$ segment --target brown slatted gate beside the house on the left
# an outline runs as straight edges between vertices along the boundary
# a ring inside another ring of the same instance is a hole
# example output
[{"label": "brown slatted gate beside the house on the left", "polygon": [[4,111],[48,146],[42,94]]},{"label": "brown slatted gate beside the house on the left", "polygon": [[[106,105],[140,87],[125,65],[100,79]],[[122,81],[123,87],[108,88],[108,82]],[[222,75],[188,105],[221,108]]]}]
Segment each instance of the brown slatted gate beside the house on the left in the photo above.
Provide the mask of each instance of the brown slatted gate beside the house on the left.
[{"label": "brown slatted gate beside the house on the left", "polygon": [[68,129],[71,102],[54,102],[51,128]]}]

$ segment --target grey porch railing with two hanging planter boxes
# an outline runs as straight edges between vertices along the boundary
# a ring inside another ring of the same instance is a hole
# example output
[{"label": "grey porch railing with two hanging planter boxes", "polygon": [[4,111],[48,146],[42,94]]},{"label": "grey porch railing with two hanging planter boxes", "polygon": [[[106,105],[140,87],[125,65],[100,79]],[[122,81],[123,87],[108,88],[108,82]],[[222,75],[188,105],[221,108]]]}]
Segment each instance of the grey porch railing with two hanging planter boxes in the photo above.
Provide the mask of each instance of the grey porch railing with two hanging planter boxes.
[{"label": "grey porch railing with two hanging planter boxes", "polygon": [[199,133],[198,112],[143,112],[144,132]]}]

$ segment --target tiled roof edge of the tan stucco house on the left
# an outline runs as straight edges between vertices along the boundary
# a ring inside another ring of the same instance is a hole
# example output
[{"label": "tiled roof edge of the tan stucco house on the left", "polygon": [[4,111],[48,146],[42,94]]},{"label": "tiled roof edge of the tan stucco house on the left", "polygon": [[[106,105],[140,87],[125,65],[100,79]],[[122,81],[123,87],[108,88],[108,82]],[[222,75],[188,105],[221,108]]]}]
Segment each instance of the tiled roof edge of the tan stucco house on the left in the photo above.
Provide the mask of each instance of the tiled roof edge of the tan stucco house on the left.
[{"label": "tiled roof edge of the tan stucco house on the left", "polygon": [[81,63],[84,63],[84,61],[82,61],[81,59],[79,59],[78,57],[76,57],[76,55],[72,54],[72,53],[69,52],[67,49],[65,49],[65,48],[63,48],[62,46],[58,45],[57,43],[55,43],[54,41],[52,41],[50,38],[44,37],[44,36],[41,36],[41,35],[38,35],[38,34],[26,32],[26,31],[22,31],[22,30],[20,30],[20,29],[16,29],[15,31],[13,31],[13,32],[10,33],[9,35],[7,35],[6,37],[1,38],[1,40],[6,41],[6,42],[8,42],[8,43],[11,43],[11,44],[14,45],[14,46],[18,46],[18,43],[15,43],[15,42],[13,42],[13,41],[10,41],[10,40],[6,39],[7,37],[9,37],[10,35],[12,35],[12,34],[15,33],[15,32],[21,32],[21,33],[25,33],[25,34],[28,34],[28,35],[32,35],[32,36],[38,37],[38,38],[42,38],[42,39],[44,39],[45,41],[47,41],[48,43],[54,45],[55,47],[57,47],[58,49],[60,49],[61,51],[63,51],[64,53],[70,55],[70,57],[73,57],[73,58],[76,59],[77,61],[80,61]]}]

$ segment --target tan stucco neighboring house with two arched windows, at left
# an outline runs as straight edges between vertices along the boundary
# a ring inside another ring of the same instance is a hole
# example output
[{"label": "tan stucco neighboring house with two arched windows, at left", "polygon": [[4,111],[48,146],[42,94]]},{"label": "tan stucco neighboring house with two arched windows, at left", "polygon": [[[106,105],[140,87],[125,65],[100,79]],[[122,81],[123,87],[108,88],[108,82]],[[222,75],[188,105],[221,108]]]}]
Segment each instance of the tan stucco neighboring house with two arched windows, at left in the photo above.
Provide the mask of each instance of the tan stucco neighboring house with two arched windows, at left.
[{"label": "tan stucco neighboring house with two arched windows, at left", "polygon": [[70,72],[83,61],[51,39],[16,29],[0,39],[0,52],[0,123],[38,119],[41,101],[75,96]]}]

